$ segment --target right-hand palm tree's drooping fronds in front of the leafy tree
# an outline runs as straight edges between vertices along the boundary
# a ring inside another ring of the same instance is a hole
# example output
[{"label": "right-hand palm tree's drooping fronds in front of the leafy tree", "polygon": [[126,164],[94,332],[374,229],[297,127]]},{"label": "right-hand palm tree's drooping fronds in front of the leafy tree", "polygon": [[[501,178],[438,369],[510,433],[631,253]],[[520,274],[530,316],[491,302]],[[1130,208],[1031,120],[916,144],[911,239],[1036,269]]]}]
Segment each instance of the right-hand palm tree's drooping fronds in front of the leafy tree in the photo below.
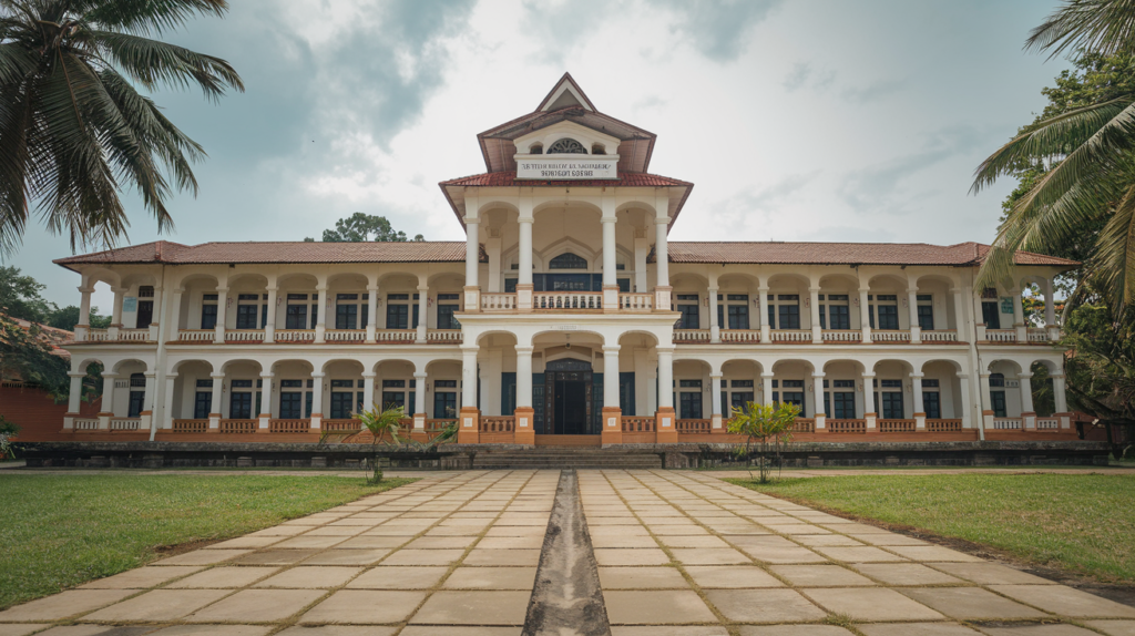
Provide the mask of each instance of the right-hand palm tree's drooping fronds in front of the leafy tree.
[{"label": "right-hand palm tree's drooping fronds in front of the leafy tree", "polygon": [[[1135,52],[1135,0],[1065,0],[1025,48]],[[1110,100],[1023,128],[982,162],[972,192],[1028,162],[1051,169],[1009,211],[977,285],[1008,278],[1016,251],[1053,249],[1103,215],[1087,275],[1117,309],[1135,303],[1135,103]]]}]

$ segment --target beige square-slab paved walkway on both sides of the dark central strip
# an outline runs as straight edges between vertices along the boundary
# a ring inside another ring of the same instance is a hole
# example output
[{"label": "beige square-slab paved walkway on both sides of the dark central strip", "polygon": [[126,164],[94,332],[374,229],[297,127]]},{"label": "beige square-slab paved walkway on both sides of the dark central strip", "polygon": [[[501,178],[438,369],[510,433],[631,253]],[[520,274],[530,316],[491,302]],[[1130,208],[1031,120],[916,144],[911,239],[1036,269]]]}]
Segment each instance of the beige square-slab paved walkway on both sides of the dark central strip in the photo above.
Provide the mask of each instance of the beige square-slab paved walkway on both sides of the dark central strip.
[{"label": "beige square-slab paved walkway on both sides of the dark central strip", "polygon": [[[519,636],[558,480],[434,473],[17,605],[0,636]],[[613,636],[1135,635],[1127,605],[714,474],[579,493]]]}]

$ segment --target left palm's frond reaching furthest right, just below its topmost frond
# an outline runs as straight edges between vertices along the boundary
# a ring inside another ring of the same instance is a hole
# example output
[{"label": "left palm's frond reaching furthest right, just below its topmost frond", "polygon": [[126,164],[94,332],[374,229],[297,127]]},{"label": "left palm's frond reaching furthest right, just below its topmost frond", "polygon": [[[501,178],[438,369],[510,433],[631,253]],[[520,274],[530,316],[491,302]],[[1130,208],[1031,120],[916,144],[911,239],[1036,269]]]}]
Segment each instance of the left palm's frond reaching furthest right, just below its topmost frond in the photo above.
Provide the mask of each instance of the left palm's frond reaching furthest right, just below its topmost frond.
[{"label": "left palm's frond reaching furthest right, just below its topmost frond", "polygon": [[127,33],[95,31],[92,35],[119,68],[146,88],[159,83],[184,88],[195,83],[213,101],[227,86],[244,91],[241,76],[220,58]]}]

